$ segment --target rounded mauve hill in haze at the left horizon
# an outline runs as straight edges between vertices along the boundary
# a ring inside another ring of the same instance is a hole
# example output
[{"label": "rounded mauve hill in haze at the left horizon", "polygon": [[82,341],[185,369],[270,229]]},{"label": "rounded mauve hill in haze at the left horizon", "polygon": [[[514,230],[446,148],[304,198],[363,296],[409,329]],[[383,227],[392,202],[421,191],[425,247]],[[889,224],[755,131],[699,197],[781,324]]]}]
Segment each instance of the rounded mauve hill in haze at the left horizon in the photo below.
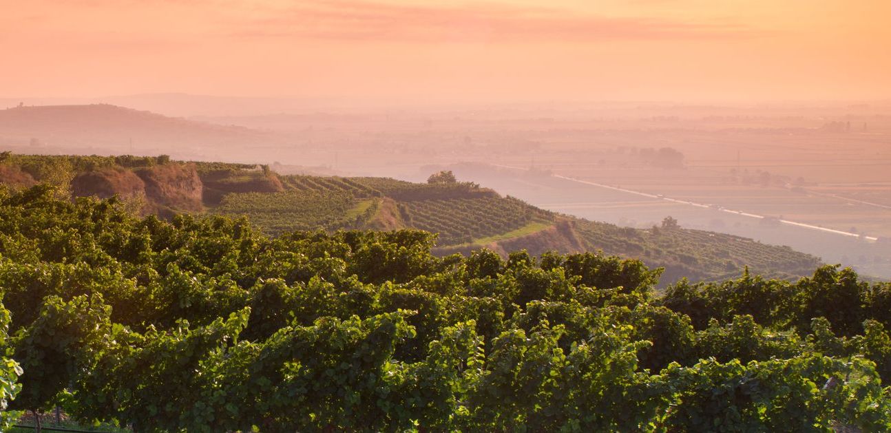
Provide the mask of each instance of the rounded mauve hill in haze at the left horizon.
[{"label": "rounded mauve hill in haze at the left horizon", "polygon": [[17,106],[0,110],[0,145],[21,150],[59,152],[66,149],[102,154],[168,153],[181,158],[223,151],[231,155],[244,146],[277,143],[273,133],[170,118],[150,111],[109,104]]}]

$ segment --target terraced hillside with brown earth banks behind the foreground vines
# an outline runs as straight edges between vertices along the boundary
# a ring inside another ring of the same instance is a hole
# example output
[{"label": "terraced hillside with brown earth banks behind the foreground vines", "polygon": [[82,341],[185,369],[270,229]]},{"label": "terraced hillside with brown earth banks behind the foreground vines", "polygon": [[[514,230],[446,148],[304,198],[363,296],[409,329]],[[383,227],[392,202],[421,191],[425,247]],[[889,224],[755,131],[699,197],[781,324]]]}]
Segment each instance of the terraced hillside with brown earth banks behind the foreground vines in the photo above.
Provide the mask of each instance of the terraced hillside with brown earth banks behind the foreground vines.
[{"label": "terraced hillside with brown earth banks behind the foreground vines", "polygon": [[[716,281],[752,273],[797,278],[820,260],[723,233],[668,224],[648,230],[535,208],[470,183],[414,184],[380,177],[281,176],[248,164],[175,162],[152,157],[5,155],[0,183],[63,184],[75,196],[131,200],[144,213],[248,217],[273,235],[297,230],[413,228],[438,233],[435,253],[488,248],[602,250],[666,268],[664,284],[687,277]],[[4,178],[3,176],[7,176]]]}]

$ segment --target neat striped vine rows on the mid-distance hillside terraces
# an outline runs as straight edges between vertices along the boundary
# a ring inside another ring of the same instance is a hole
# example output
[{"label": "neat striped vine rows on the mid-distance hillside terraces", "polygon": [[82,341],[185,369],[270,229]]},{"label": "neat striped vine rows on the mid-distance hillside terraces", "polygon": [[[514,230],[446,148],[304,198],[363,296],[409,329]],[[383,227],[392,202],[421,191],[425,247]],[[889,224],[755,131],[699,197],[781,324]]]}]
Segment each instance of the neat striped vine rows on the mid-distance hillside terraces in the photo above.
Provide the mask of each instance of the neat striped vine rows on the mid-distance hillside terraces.
[{"label": "neat striped vine rows on the mid-distance hillside terraces", "polygon": [[[232,175],[242,178],[245,175]],[[387,178],[281,176],[286,192],[229,193],[212,212],[243,215],[271,234],[294,230],[336,230],[362,226],[372,211],[349,212],[369,198],[397,200],[406,228],[438,234],[439,245],[472,243],[521,229],[551,223],[550,212],[469,184],[412,184]],[[234,182],[234,181],[230,181]],[[367,206],[366,206],[367,208]]]}]

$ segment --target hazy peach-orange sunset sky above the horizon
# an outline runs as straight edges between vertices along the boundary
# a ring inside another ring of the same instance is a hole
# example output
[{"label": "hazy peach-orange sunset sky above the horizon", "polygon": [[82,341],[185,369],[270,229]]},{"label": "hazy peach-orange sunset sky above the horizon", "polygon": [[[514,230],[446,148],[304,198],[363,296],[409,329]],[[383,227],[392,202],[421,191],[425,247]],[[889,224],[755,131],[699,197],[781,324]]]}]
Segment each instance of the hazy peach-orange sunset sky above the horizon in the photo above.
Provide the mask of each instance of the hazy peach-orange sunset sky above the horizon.
[{"label": "hazy peach-orange sunset sky above the horizon", "polygon": [[887,0],[0,0],[0,97],[891,97]]}]

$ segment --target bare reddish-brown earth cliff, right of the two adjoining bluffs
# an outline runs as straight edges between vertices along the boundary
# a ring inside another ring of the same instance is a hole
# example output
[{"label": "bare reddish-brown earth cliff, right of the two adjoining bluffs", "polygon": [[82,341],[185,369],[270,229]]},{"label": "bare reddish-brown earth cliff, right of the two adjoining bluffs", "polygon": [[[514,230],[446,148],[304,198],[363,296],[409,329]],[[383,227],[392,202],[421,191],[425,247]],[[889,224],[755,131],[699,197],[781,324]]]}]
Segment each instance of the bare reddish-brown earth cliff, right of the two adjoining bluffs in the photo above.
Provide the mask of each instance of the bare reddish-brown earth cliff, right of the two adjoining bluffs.
[{"label": "bare reddish-brown earth cliff, right of the two adjoining bluffs", "polygon": [[204,185],[191,164],[164,164],[135,171],[145,184],[145,197],[159,208],[198,211]]}]

